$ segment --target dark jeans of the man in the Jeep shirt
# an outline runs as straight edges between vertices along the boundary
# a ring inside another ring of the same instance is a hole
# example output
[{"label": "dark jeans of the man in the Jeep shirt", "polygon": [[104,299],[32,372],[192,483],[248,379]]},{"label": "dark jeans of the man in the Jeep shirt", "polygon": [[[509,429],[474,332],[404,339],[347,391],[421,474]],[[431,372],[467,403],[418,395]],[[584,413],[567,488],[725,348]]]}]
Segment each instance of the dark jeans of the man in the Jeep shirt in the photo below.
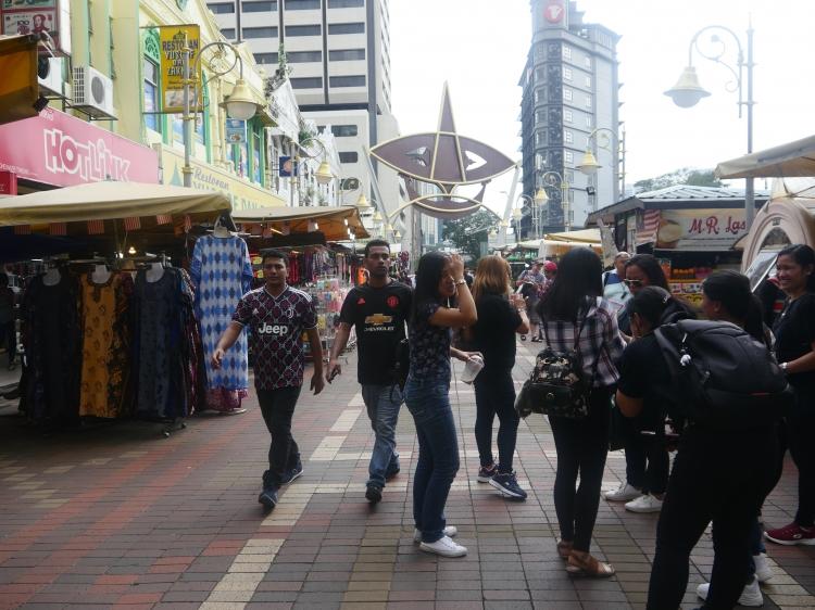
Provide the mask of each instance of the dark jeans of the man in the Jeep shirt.
[{"label": "dark jeans of the man in the Jeep shirt", "polygon": [[268,470],[263,473],[264,484],[280,485],[284,474],[300,462],[300,449],[291,437],[291,417],[300,396],[300,386],[258,389],[263,421],[272,434],[268,447]]}]

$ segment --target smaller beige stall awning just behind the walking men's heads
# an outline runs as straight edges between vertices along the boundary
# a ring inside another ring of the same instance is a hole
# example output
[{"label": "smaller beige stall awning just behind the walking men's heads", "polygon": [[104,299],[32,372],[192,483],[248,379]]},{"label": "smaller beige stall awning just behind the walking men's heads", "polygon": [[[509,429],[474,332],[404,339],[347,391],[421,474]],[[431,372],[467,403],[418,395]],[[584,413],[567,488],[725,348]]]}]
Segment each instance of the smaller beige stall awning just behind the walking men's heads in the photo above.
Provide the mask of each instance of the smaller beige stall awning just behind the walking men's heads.
[{"label": "smaller beige stall awning just behind the walking men's heads", "polygon": [[348,241],[348,229],[353,231],[356,239],[371,237],[354,205],[240,209],[233,213],[233,220],[242,225],[272,226],[277,231],[288,227],[289,233],[308,233],[309,223],[314,220],[318,225],[316,230],[323,233],[327,241]]}]

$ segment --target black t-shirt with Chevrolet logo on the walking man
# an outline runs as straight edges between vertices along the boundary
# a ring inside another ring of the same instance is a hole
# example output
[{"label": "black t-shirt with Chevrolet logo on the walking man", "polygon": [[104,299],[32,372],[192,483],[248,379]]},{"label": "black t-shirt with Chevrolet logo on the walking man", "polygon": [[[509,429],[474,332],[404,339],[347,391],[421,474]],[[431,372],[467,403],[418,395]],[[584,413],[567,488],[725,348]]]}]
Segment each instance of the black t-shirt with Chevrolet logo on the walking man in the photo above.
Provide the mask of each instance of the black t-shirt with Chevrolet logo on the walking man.
[{"label": "black t-shirt with Chevrolet logo on the walking man", "polygon": [[413,292],[398,281],[383,288],[367,283],[352,288],[340,310],[340,321],[356,327],[360,383],[389,385],[397,345],[404,339]]}]

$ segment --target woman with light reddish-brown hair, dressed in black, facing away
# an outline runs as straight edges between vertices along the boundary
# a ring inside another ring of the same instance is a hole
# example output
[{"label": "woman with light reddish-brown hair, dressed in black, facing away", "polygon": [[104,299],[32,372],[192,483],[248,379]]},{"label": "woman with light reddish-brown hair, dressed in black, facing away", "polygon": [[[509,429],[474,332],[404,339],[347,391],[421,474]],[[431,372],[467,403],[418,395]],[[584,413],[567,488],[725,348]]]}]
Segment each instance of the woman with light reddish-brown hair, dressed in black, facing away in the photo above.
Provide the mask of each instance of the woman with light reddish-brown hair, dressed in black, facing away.
[{"label": "woman with light reddish-brown hair, dressed in black, facing away", "polygon": [[[478,262],[473,298],[478,321],[473,327],[475,348],[484,355],[484,369],[474,381],[476,397],[475,436],[480,468],[477,481],[489,483],[503,496],[525,500],[512,468],[521,418],[515,410],[515,334],[529,332],[526,303],[512,293],[512,269],[500,256]],[[492,422],[499,419],[498,458],[492,455]]]}]

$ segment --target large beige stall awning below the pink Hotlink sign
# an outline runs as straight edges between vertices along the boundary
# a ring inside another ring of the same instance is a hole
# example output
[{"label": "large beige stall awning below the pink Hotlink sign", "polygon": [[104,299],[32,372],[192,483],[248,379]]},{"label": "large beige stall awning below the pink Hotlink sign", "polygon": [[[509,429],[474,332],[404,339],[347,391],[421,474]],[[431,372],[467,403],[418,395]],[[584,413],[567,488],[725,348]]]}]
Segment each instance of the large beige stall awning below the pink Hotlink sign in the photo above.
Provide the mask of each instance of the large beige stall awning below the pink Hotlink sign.
[{"label": "large beige stall awning below the pink Hotlink sign", "polygon": [[229,207],[229,200],[213,191],[140,182],[88,182],[3,199],[0,201],[0,227],[47,227],[166,216],[188,216],[195,221],[214,218],[216,212]]}]

